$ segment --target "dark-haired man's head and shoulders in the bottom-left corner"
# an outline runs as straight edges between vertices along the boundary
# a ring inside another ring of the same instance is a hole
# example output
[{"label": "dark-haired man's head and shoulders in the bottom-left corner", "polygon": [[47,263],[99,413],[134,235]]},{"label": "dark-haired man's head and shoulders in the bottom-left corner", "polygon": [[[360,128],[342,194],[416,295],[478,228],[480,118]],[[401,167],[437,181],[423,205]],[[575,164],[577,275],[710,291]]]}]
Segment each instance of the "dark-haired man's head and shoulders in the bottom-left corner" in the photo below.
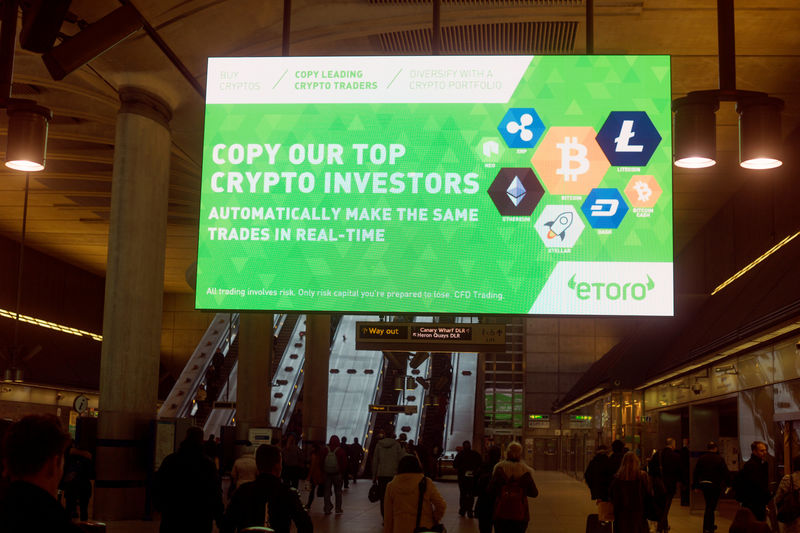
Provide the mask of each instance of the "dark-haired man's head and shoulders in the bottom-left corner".
[{"label": "dark-haired man's head and shoulders in the bottom-left corner", "polygon": [[56,500],[69,442],[53,415],[29,415],[9,427],[2,454],[11,481],[0,501],[3,533],[81,533]]}]

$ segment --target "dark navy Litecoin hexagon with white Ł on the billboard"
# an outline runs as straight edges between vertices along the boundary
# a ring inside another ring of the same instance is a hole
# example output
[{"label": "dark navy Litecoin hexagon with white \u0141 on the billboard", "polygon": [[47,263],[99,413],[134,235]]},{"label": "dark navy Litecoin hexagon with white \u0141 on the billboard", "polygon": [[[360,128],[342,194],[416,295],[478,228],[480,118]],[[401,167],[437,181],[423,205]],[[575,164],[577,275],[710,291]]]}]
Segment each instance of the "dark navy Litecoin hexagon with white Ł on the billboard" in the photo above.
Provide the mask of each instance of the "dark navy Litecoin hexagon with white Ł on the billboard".
[{"label": "dark navy Litecoin hexagon with white \u0141 on the billboard", "polygon": [[612,111],[597,133],[597,144],[611,166],[646,166],[661,135],[644,111]]}]

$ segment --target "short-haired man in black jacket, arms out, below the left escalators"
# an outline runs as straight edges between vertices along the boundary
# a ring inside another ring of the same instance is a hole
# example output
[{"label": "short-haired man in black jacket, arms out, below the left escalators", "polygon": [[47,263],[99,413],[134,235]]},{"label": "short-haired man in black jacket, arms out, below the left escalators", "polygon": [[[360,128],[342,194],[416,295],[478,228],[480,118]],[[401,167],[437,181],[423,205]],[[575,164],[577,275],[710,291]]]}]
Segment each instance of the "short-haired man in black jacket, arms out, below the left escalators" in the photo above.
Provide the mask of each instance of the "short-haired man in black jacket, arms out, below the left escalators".
[{"label": "short-haired man in black jacket, arms out, below the left escalators", "polygon": [[234,533],[248,527],[267,526],[275,533],[289,533],[294,522],[297,533],[312,533],[314,526],[300,503],[297,490],[281,482],[281,451],[262,444],[256,450],[258,477],[233,494],[220,533]]}]

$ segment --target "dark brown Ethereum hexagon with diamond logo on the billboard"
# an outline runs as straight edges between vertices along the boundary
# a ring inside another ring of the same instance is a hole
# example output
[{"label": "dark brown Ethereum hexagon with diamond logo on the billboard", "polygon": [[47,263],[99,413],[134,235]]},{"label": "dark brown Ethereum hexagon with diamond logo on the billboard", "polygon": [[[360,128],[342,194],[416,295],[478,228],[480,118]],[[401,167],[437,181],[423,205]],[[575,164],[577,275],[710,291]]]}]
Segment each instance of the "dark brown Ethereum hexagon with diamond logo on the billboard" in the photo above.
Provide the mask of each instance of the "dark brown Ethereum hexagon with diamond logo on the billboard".
[{"label": "dark brown Ethereum hexagon with diamond logo on the billboard", "polygon": [[501,168],[486,192],[505,217],[531,216],[544,196],[544,188],[530,168]]}]

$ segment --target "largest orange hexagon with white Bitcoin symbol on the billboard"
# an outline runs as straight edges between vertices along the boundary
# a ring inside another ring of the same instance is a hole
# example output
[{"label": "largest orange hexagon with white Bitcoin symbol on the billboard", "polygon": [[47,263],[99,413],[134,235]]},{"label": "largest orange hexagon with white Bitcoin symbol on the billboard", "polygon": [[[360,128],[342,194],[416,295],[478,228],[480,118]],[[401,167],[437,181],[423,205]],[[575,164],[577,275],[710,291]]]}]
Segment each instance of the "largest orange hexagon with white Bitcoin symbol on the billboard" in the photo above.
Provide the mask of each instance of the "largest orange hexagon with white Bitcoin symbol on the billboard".
[{"label": "largest orange hexagon with white Bitcoin symbol on the billboard", "polygon": [[611,165],[591,127],[547,130],[531,163],[550,194],[586,195],[603,180]]}]

